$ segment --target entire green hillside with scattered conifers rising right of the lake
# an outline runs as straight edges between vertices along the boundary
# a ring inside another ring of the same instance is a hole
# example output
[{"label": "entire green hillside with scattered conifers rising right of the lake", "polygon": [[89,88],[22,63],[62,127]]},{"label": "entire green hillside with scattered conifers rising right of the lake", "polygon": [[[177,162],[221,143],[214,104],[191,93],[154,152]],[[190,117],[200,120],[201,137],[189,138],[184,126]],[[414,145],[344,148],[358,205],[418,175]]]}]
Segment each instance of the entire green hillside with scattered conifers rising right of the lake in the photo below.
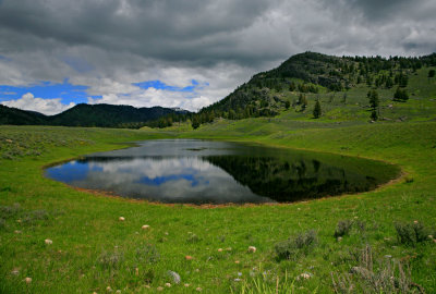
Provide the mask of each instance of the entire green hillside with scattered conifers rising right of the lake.
[{"label": "entire green hillside with scattered conifers rising right of the lake", "polygon": [[[385,59],[305,52],[254,75],[222,100],[202,109],[194,121],[277,115],[312,120],[316,100],[323,121],[368,121],[370,90],[379,97],[378,120],[432,120],[436,115],[436,78],[429,76],[435,66],[436,53]],[[397,99],[396,93],[400,93]]]}]

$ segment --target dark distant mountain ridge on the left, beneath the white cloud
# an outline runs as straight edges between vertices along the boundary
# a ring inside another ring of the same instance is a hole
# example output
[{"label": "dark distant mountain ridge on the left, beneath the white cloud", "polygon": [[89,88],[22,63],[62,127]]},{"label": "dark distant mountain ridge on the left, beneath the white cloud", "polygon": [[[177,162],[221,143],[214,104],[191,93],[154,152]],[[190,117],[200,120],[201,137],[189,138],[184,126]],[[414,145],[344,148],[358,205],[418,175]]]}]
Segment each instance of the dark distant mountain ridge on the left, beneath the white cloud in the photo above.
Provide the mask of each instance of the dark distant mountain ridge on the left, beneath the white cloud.
[{"label": "dark distant mountain ridge on the left, beneath the white cloud", "polygon": [[138,128],[146,122],[181,112],[190,113],[187,110],[162,107],[135,108],[132,106],[80,103],[59,114],[45,115],[0,105],[0,124]]}]

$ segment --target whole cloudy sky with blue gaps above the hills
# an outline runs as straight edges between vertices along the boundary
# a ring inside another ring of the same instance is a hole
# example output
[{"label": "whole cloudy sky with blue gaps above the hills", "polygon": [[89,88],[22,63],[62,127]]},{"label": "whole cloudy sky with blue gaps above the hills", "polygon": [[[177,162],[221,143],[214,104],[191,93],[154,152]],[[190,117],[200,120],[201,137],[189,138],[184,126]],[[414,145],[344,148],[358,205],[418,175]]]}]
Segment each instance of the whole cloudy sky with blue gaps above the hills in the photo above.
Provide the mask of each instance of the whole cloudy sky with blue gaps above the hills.
[{"label": "whole cloudy sky with blue gaps above the hills", "polygon": [[435,0],[0,0],[0,103],[197,111],[304,51],[436,51]]}]

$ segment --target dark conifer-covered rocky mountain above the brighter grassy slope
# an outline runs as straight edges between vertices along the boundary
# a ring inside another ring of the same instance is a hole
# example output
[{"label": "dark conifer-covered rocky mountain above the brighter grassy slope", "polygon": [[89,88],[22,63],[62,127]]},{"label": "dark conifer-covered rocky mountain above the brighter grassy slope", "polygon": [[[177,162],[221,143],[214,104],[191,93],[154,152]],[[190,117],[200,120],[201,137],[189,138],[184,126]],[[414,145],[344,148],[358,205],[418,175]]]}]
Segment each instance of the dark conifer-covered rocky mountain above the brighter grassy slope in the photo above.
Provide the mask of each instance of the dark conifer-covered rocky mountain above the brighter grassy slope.
[{"label": "dark conifer-covered rocky mountain above the brighter grassy slope", "polygon": [[216,117],[230,120],[275,117],[291,106],[304,114],[307,105],[315,100],[331,102],[337,95],[344,97],[350,90],[354,95],[353,89],[360,89],[365,99],[368,89],[392,91],[393,96],[395,88],[405,90],[408,81],[429,66],[436,66],[436,53],[382,58],[304,52],[254,75],[222,100],[203,108],[193,120],[198,125]]}]

